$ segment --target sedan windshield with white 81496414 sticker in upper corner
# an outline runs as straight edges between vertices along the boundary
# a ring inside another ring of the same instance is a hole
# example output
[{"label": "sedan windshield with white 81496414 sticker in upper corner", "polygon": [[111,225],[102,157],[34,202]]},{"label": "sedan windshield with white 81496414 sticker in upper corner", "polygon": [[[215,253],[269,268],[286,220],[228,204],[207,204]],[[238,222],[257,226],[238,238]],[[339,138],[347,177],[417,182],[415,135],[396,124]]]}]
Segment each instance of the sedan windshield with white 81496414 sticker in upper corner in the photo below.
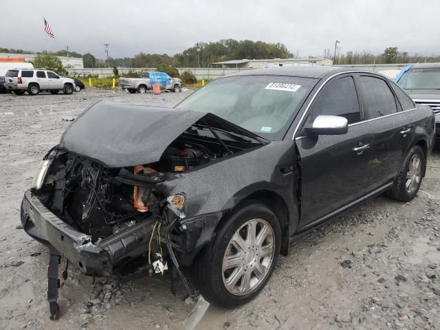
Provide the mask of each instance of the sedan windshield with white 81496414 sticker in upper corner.
[{"label": "sedan windshield with white 81496414 sticker in upper corner", "polygon": [[285,76],[219,78],[176,108],[210,112],[269,140],[282,140],[316,81]]}]

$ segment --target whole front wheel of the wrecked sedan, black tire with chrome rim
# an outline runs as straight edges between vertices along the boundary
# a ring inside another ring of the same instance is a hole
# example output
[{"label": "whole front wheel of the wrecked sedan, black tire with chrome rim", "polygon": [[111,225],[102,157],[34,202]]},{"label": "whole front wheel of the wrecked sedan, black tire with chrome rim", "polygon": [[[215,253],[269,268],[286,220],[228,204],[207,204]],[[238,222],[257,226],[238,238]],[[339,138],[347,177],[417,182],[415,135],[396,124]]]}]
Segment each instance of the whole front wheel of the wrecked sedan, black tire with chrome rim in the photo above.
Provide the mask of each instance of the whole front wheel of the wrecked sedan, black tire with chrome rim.
[{"label": "whole front wheel of the wrecked sedan, black tire with chrome rim", "polygon": [[[250,240],[248,232],[252,228],[256,232],[255,240],[265,228],[267,236],[261,244]],[[241,242],[242,248],[235,240]],[[224,308],[248,303],[269,281],[280,248],[281,228],[270,208],[249,202],[232,211],[219,225],[212,242],[197,258],[195,280],[203,298]],[[238,258],[234,265],[227,265],[227,257],[232,255],[238,255]]]}]

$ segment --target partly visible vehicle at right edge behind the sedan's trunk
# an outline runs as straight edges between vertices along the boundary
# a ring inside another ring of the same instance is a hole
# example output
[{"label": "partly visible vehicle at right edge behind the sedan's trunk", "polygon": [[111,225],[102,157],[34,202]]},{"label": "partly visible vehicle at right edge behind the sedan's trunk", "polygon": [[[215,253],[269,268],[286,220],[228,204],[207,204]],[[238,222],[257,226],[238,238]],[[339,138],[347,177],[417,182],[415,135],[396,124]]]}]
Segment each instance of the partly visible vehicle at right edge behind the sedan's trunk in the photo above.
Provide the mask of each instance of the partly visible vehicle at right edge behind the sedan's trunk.
[{"label": "partly visible vehicle at right edge behind the sedan's trunk", "polygon": [[397,85],[417,104],[432,108],[436,140],[440,141],[440,63],[410,65],[397,76]]}]

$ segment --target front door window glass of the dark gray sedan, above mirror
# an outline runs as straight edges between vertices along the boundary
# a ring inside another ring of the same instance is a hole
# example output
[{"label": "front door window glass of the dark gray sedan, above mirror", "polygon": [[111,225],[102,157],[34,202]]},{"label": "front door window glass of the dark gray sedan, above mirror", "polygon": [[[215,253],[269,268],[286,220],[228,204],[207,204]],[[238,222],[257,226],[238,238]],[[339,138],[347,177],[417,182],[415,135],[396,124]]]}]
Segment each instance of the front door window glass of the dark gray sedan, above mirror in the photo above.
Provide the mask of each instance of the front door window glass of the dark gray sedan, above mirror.
[{"label": "front door window glass of the dark gray sedan, above mirror", "polygon": [[307,123],[311,124],[318,115],[340,115],[347,118],[349,124],[360,122],[359,102],[353,78],[333,80],[320,91],[311,104]]}]

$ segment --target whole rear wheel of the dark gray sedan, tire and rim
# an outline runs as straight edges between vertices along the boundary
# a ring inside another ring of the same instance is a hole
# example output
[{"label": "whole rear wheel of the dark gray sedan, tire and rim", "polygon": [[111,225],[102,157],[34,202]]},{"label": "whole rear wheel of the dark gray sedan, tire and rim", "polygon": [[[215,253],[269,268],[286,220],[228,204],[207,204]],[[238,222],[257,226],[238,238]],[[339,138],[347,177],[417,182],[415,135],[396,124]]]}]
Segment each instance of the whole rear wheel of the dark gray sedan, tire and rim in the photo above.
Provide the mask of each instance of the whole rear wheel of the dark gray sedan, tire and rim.
[{"label": "whole rear wheel of the dark gray sedan, tire and rim", "polygon": [[389,191],[389,196],[397,201],[413,199],[421,185],[425,162],[423,150],[419,146],[413,146],[406,155],[404,164]]}]

